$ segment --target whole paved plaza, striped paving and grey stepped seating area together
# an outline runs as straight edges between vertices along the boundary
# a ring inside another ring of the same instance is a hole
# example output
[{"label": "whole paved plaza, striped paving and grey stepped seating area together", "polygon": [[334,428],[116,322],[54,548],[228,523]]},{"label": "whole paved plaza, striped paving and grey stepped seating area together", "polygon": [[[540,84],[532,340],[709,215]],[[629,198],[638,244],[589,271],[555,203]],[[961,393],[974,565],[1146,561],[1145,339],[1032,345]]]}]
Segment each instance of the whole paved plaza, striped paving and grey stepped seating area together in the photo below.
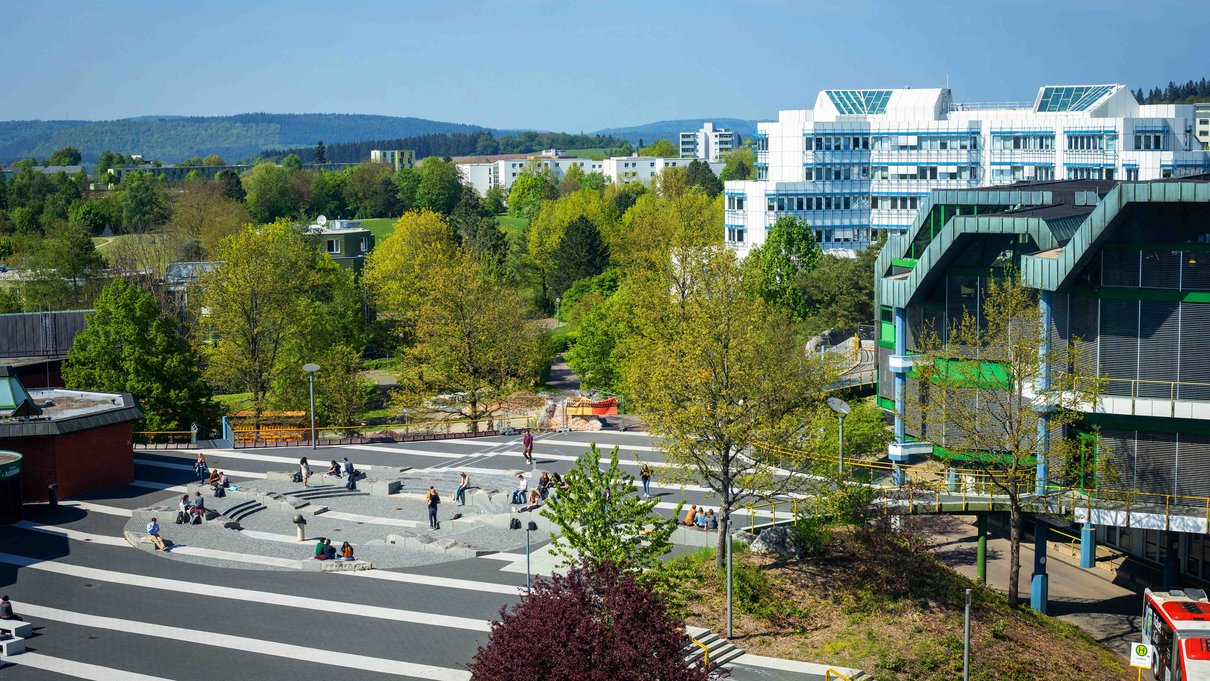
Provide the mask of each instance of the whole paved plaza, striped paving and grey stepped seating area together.
[{"label": "whole paved plaza, striped paving and grey stepped seating area together", "polygon": [[[203,491],[207,507],[253,512],[238,526],[178,526],[171,510],[159,516],[174,546],[167,554],[132,547],[123,535],[139,536],[139,509],[174,508],[196,487],[196,452],[137,451],[134,484],[67,500],[54,512],[27,507],[24,521],[0,529],[0,590],[35,634],[29,652],[4,659],[0,677],[466,680],[465,665],[486,641],[489,623],[525,584],[524,532],[507,529],[508,500],[489,491],[507,492],[520,471],[566,473],[595,442],[606,451],[617,445],[632,474],[640,462],[652,464],[662,513],[681,500],[716,506],[704,490],[661,486],[664,462],[643,434],[541,435],[532,468],[519,440],[207,450],[211,467],[238,487],[221,500]],[[305,491],[284,477],[300,456],[317,473]],[[346,456],[367,472],[358,494],[318,475]],[[482,492],[466,507],[453,503],[459,472]],[[371,494],[368,483],[379,477],[402,479],[403,487]],[[437,531],[427,524],[428,484],[443,498]],[[300,492],[306,506],[281,506],[282,498],[301,503]],[[454,520],[455,513],[462,518]],[[373,570],[315,570],[315,542],[295,539],[294,515],[307,520],[309,538],[348,541]],[[548,535],[542,529],[531,539],[532,570],[549,573]],[[809,680],[822,671],[744,656],[733,679]]]}]

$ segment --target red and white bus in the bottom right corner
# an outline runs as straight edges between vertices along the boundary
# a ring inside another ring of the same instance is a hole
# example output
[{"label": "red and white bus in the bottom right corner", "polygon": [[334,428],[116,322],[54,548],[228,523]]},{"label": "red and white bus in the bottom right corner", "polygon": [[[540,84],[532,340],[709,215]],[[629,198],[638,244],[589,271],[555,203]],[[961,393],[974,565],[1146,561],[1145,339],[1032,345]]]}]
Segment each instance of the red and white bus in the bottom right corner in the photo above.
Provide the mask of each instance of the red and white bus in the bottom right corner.
[{"label": "red and white bus in the bottom right corner", "polygon": [[1145,590],[1142,639],[1156,650],[1156,681],[1210,681],[1210,600],[1204,590]]}]

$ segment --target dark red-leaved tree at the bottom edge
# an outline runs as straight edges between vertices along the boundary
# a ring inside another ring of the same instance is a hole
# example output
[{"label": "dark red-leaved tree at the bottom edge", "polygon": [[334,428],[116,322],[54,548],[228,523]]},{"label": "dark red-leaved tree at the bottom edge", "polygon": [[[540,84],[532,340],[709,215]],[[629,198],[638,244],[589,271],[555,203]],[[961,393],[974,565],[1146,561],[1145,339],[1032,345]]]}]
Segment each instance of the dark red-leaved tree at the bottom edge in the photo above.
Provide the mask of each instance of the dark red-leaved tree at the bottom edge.
[{"label": "dark red-leaved tree at the bottom edge", "polygon": [[538,579],[471,662],[471,681],[703,681],[685,663],[684,623],[612,562]]}]

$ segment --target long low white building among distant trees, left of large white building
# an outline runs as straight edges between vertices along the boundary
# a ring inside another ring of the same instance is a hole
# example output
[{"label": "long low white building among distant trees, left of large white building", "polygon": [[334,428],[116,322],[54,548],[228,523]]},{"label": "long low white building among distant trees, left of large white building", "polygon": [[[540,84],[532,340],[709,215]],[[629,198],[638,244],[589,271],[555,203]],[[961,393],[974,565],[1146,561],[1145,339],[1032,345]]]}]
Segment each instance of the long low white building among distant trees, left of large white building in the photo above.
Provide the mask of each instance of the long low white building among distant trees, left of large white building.
[{"label": "long low white building among distant trees, left of large white building", "polygon": [[[626,184],[632,181],[647,183],[664,168],[684,168],[693,161],[696,158],[658,158],[655,156],[616,156],[594,161],[567,156],[555,149],[548,149],[541,156],[511,156],[480,162],[463,162],[457,165],[457,169],[462,174],[462,180],[482,195],[494,186],[508,190],[530,165],[548,168],[560,180],[572,166],[578,166],[586,174],[600,173],[610,181]],[[722,163],[708,165],[714,174],[722,172]]]}]

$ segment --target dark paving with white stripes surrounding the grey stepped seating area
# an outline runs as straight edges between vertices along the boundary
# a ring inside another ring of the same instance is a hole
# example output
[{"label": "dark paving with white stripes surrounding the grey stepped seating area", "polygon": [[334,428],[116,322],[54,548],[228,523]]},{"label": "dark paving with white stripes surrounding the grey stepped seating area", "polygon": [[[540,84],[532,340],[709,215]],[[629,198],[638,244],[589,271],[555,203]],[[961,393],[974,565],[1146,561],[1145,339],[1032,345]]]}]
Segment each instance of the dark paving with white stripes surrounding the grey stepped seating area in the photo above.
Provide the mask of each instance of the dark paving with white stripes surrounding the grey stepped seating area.
[{"label": "dark paving with white stripes surrounding the grey stepped seating area", "polygon": [[[559,433],[537,438],[536,466],[566,472],[588,442],[618,445],[630,473],[638,472],[640,460],[656,464],[657,472],[663,463],[643,435]],[[53,515],[29,507],[31,520],[67,536],[0,529],[0,590],[35,625],[29,652],[10,658],[0,677],[465,680],[465,665],[486,641],[489,622],[518,600],[511,589],[524,584],[524,573],[505,570],[508,562],[500,556],[409,567],[398,573],[419,579],[392,581],[373,578],[388,571],[244,570],[167,560],[131,548],[121,538],[129,520],[122,513],[163,501],[169,496],[163,486],[190,481],[190,472],[165,463],[189,463],[194,456],[139,451],[137,484],[90,495],[77,500],[82,506],[60,507]],[[257,473],[293,469],[276,457],[299,456],[468,471],[472,478],[476,471],[523,464],[519,438],[207,454],[211,466],[232,472],[236,484]],[[666,513],[682,497],[709,501],[702,490],[653,492],[662,495]],[[518,544],[519,549],[520,536]],[[733,679],[820,679],[771,669],[759,658],[753,662],[737,664]]]}]

